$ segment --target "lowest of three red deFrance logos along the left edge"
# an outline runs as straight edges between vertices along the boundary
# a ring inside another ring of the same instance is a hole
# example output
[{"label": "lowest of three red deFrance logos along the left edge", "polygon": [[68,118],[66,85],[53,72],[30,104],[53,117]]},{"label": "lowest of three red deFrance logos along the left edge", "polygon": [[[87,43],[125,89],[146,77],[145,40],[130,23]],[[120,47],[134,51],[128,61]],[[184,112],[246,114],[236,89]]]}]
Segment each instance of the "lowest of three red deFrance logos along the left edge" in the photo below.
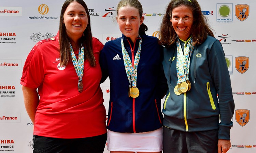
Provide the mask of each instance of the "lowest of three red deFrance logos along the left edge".
[{"label": "lowest of three red deFrance logos along the left edge", "polygon": [[20,123],[20,113],[0,113],[0,123]]}]

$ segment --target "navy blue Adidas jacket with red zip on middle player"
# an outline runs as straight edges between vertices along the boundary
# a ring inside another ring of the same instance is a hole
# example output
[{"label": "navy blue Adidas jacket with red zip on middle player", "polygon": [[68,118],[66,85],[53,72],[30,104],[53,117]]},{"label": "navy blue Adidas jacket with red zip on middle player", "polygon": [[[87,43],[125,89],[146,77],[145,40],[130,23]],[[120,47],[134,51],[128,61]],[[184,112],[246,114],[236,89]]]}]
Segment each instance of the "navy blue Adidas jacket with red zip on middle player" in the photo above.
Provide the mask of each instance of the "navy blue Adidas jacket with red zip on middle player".
[{"label": "navy blue Adidas jacket with red zip on middle player", "polygon": [[[132,58],[139,47],[130,38],[122,36],[124,46]],[[141,35],[141,56],[138,65],[137,87],[140,95],[128,97],[129,81],[125,71],[121,37],[108,41],[100,54],[102,80],[110,79],[110,101],[107,128],[114,132],[139,133],[159,129],[162,126],[161,98],[167,85],[162,69],[163,47],[153,36]],[[133,57],[133,58],[134,58]],[[161,87],[161,85],[163,85]]]}]

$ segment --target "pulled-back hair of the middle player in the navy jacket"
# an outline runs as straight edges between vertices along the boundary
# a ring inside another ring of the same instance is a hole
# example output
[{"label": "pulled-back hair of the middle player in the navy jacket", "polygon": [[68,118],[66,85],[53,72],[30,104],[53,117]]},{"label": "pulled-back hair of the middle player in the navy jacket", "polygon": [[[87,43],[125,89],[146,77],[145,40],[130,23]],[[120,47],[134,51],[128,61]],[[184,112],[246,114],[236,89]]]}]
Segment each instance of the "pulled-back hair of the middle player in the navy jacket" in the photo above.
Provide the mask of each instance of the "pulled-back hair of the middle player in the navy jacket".
[{"label": "pulled-back hair of the middle player in the navy jacket", "polygon": [[[143,9],[142,9],[141,3],[138,0],[121,0],[117,4],[117,8],[116,8],[117,16],[118,16],[119,9],[124,6],[131,6],[131,7],[137,8],[139,10],[140,18],[142,17]],[[144,23],[142,23],[139,28],[139,35],[145,34],[146,31],[147,31],[147,26]]]}]

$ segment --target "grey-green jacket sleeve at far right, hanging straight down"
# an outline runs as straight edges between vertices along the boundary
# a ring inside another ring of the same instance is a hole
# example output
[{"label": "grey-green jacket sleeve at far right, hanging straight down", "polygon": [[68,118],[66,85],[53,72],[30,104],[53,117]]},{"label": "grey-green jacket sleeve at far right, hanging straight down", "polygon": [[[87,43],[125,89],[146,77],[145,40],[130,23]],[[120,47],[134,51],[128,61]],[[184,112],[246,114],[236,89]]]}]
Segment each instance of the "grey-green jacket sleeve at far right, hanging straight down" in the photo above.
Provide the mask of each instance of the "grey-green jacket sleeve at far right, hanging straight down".
[{"label": "grey-green jacket sleeve at far right, hanging straight down", "polygon": [[208,55],[209,69],[218,94],[220,119],[219,139],[230,140],[231,121],[234,113],[234,100],[230,76],[221,43],[216,40]]}]

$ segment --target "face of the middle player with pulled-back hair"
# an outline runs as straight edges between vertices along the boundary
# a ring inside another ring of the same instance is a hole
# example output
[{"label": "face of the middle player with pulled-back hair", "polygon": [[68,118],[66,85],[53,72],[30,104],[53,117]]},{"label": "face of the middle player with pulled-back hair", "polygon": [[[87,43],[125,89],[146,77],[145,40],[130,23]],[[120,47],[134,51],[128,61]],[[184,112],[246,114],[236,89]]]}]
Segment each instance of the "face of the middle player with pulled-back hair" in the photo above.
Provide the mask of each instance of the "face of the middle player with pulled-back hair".
[{"label": "face of the middle player with pulled-back hair", "polygon": [[119,8],[116,20],[120,31],[134,43],[139,36],[139,28],[144,20],[143,16],[140,18],[139,10],[135,7],[123,6]]}]

